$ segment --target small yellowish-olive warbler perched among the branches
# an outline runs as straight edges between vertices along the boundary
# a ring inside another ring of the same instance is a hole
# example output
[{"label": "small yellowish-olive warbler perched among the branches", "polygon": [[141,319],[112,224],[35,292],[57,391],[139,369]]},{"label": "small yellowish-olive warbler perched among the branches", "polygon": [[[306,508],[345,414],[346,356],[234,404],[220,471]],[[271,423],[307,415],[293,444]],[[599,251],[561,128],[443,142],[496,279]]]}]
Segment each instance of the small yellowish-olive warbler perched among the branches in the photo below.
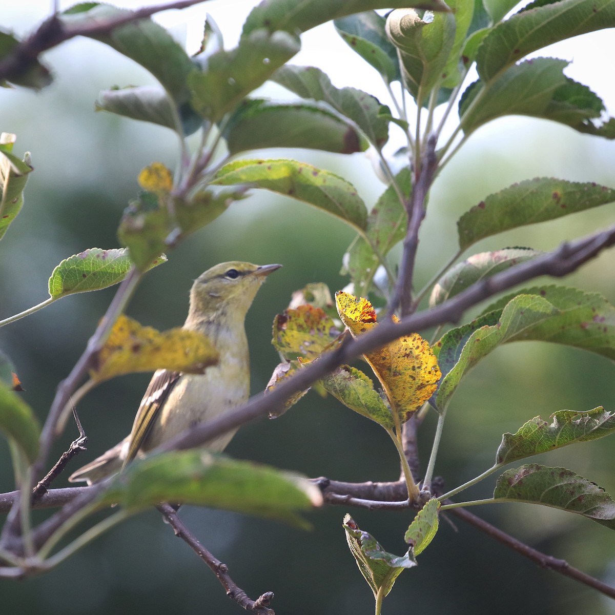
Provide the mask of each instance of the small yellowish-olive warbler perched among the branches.
[{"label": "small yellowish-olive warbler perched among the branches", "polygon": [[[250,357],[245,315],[266,277],[282,265],[231,261],[208,269],[194,281],[183,328],[204,333],[220,353],[202,375],[157,370],[137,410],[130,435],[68,480],[89,485],[119,472],[137,455],[181,432],[236,408],[250,392]],[[221,451],[235,431],[206,444]]]}]

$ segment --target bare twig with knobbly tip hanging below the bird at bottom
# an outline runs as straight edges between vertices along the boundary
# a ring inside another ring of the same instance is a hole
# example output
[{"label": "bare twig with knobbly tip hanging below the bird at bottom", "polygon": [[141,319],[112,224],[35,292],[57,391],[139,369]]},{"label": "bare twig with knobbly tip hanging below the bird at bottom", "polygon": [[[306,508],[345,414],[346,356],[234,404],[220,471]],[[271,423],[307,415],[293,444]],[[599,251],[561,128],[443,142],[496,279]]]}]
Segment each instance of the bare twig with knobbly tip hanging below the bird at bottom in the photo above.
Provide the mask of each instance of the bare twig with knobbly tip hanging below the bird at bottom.
[{"label": "bare twig with knobbly tip hanging below the bird at bottom", "polygon": [[231,600],[236,601],[236,603],[242,606],[246,611],[258,613],[259,615],[275,615],[274,611],[268,608],[273,598],[273,592],[265,592],[256,600],[248,598],[247,593],[238,587],[236,582],[231,579],[228,573],[228,566],[223,564],[200,544],[196,536],[188,530],[186,525],[178,517],[177,511],[170,506],[170,504],[160,504],[160,506],[156,508],[169,522],[169,525],[175,532],[175,536],[181,538],[209,566],[213,574],[218,577],[218,581],[220,581],[224,590],[226,590],[226,595],[231,598]]}]

